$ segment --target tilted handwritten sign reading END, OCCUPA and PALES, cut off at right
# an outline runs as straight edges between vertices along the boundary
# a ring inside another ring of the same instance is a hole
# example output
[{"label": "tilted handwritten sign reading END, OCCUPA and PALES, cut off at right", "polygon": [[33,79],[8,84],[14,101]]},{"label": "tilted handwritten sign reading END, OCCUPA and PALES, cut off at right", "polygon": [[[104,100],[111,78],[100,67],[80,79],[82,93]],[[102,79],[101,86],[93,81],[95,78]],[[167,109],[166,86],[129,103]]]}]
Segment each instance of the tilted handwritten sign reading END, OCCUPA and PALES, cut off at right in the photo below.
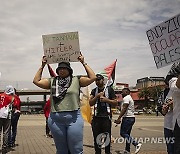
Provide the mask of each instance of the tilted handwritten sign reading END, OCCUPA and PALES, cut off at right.
[{"label": "tilted handwritten sign reading END, OCCUPA and PALES, cut off at right", "polygon": [[149,29],[146,34],[157,68],[180,61],[180,14]]}]

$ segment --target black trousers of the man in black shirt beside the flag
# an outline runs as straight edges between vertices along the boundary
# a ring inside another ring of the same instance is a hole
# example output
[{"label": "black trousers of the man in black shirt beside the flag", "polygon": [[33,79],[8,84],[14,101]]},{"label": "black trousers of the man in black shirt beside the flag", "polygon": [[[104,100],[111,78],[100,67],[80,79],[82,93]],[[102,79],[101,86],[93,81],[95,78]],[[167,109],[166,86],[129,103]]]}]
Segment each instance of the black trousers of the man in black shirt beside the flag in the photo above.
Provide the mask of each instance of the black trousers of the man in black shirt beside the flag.
[{"label": "black trousers of the man in black shirt beside the flag", "polygon": [[92,131],[95,154],[101,154],[102,145],[105,146],[105,153],[110,154],[111,125],[112,123],[109,117],[93,117]]}]

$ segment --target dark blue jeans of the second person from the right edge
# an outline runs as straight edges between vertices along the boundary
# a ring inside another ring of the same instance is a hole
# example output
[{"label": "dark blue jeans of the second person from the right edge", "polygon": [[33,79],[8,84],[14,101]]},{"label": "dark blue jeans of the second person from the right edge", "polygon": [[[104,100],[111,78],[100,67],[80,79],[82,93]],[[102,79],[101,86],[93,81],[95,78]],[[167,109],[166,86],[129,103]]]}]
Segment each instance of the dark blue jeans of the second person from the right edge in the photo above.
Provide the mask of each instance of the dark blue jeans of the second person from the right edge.
[{"label": "dark blue jeans of the second person from the right edge", "polygon": [[173,131],[167,128],[164,128],[164,137],[166,139],[166,146],[168,154],[174,153],[174,143],[173,143]]}]

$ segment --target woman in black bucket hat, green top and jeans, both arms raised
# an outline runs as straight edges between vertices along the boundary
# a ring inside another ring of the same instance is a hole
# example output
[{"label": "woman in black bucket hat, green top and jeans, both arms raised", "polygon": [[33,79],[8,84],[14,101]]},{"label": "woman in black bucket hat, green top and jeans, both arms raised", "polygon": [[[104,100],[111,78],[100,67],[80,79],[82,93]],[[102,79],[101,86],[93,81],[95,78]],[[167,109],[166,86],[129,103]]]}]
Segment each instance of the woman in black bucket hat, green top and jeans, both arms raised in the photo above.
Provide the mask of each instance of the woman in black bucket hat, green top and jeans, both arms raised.
[{"label": "woman in black bucket hat, green top and jeans, both arms raised", "polygon": [[46,57],[36,73],[33,83],[40,88],[51,90],[51,113],[48,125],[52,132],[57,154],[83,153],[83,119],[80,113],[80,87],[90,85],[95,81],[96,75],[84,62],[80,55],[78,60],[82,63],[87,76],[73,76],[69,62],[61,62],[56,69],[57,77],[41,78],[46,65]]}]

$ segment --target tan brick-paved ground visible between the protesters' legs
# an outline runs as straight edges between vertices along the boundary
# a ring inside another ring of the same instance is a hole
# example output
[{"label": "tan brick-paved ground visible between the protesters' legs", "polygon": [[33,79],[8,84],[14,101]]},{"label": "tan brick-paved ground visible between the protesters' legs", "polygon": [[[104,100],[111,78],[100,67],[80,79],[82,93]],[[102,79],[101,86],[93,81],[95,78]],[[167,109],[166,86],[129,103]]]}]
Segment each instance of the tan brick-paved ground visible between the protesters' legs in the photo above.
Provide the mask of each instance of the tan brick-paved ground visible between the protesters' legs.
[{"label": "tan brick-paved ground visible between the protesters' legs", "polygon": [[[163,137],[163,117],[138,116],[132,135],[144,138]],[[112,126],[112,135],[115,143],[112,144],[112,154],[118,154],[124,148],[122,138],[119,138],[119,126]],[[134,152],[132,146],[132,152]],[[147,141],[142,146],[140,154],[165,154],[164,143]],[[43,115],[22,115],[19,120],[16,147],[8,154],[55,154],[53,139],[45,137],[45,118]],[[94,154],[91,127],[84,125],[84,154]]]}]

